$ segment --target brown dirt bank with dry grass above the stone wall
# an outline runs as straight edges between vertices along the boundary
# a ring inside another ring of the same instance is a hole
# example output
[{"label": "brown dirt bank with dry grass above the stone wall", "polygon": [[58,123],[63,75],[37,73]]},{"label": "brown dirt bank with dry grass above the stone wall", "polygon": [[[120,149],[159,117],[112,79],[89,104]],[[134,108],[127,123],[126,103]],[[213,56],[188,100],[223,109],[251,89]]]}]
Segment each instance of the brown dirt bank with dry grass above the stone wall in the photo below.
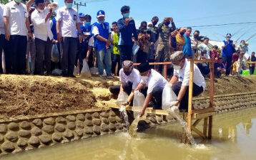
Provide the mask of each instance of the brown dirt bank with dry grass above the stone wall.
[{"label": "brown dirt bank with dry grass above the stone wall", "polygon": [[[200,97],[209,95],[207,88]],[[0,75],[0,118],[86,110],[113,101],[109,87],[119,79],[61,78],[36,75]],[[215,79],[215,95],[254,92],[256,76]]]}]

